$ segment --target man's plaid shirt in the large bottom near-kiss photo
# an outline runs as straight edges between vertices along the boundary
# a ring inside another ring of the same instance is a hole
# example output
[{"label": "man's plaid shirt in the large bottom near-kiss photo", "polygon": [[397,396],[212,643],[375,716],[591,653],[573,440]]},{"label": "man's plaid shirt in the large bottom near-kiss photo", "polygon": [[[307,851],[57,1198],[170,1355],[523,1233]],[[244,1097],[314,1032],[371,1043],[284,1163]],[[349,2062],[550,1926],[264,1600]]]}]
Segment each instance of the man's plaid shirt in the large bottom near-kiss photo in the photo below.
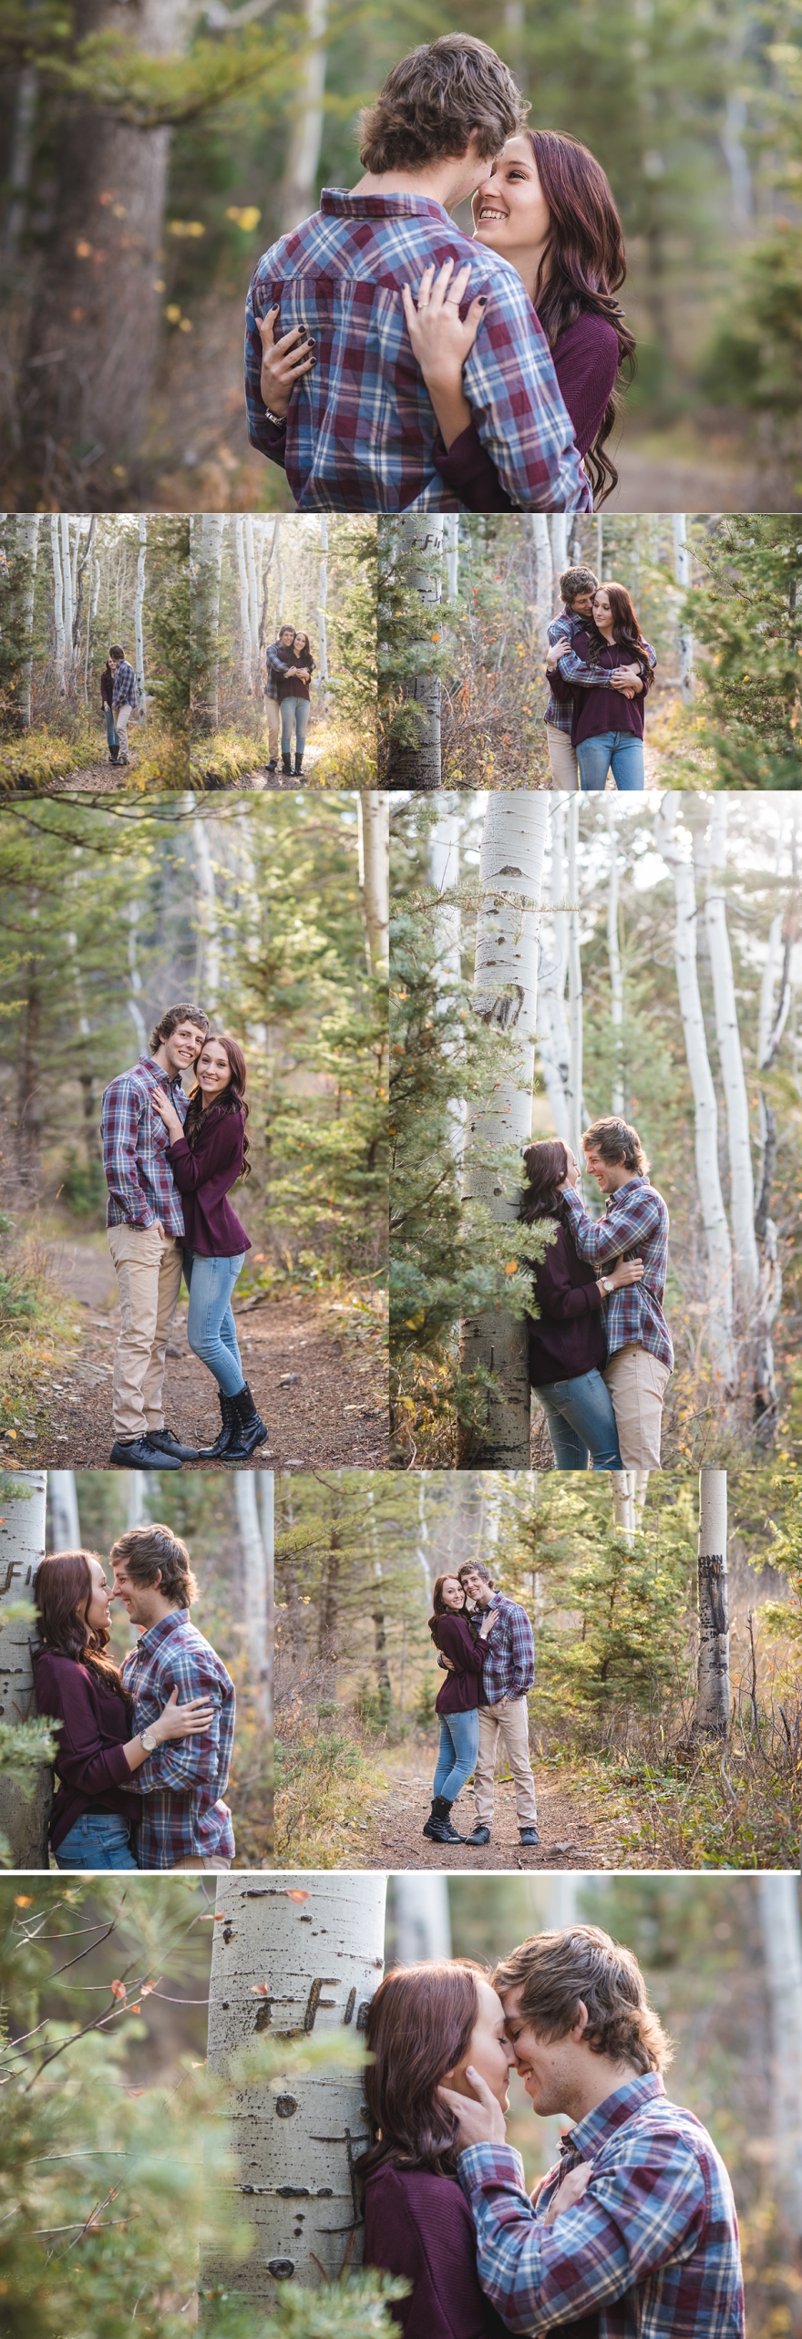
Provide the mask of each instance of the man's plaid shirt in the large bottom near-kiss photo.
[{"label": "man's plaid shirt in the large bottom near-kiss photo", "polygon": [[[559,2180],[592,2161],[554,2224]],[[470,2145],[456,2173],[477,2227],[484,2295],[512,2332],[582,2320],[599,2339],[744,2339],[739,2224],[725,2164],[692,2112],[648,2072],[568,2128],[538,2206],[510,2145]]]}]

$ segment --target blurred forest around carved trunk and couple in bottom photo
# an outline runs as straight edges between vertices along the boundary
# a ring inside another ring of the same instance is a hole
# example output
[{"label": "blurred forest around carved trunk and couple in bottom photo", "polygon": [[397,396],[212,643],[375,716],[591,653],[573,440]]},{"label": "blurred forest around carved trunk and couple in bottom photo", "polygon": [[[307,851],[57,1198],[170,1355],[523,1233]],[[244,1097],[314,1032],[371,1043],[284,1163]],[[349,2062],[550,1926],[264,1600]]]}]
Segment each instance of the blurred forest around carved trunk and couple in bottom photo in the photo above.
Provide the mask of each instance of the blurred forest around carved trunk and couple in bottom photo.
[{"label": "blurred forest around carved trunk and couple in bottom photo", "polygon": [[[75,2313],[103,2339],[124,2339],[133,2313],[145,2339],[180,2339],[196,2325],[199,2252],[246,2248],[231,2215],[236,2100],[206,2065],[213,1920],[206,1878],[143,1876],[126,1895],[101,1876],[37,1890],[0,1878],[5,2187],[16,2208],[2,2220],[0,2276],[14,2339],[51,2339]],[[390,1876],[386,1962],[493,1965],[531,1932],[573,1920],[603,1925],[638,1955],[673,2040],[669,2096],[725,2157],[748,2339],[797,2339],[802,2203],[783,2124],[802,2065],[797,1883]],[[283,2047],[283,2072],[297,2054]],[[269,2086],[276,2042],[250,2044],[248,2075]],[[531,2185],[554,2161],[556,2124],[533,2119],[517,2077],[510,2140]],[[327,2297],[283,2285],[274,2313],[217,2295],[203,2327],[213,2339],[369,2339],[395,2323],[346,2283]]]}]

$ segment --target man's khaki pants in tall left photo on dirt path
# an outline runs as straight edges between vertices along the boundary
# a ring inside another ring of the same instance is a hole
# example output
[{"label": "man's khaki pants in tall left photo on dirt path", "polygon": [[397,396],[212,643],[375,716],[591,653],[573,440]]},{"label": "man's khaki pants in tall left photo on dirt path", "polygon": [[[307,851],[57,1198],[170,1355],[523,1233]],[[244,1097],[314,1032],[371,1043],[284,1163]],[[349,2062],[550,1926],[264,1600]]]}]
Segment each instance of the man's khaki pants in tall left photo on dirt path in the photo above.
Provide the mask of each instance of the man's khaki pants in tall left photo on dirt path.
[{"label": "man's khaki pants in tall left photo on dirt path", "polygon": [[161,1240],[154,1226],[110,1226],[108,1247],[119,1289],[115,1438],[143,1438],[145,1429],[164,1429],[164,1352],[185,1254],[175,1235]]}]

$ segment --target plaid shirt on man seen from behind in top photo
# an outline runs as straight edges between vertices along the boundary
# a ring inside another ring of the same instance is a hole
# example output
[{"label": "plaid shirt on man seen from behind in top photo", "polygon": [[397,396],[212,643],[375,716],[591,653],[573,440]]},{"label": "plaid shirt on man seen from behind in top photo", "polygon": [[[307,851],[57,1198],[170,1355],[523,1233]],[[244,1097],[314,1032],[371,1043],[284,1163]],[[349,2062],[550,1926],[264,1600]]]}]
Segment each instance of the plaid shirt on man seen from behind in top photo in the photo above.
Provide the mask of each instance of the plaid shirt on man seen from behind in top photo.
[{"label": "plaid shirt on man seen from behind in top photo", "polygon": [[412,356],[402,285],[416,292],[428,262],[470,260],[463,309],[486,292],[465,360],[482,444],[521,512],[587,512],[573,426],[559,395],[547,339],[517,269],[454,227],[416,194],[348,194],[325,187],[320,211],[262,255],[246,311],[248,437],[274,451],[260,391],[255,318],[281,304],[290,325],[316,337],[316,367],[297,384],[285,465],[297,510],[461,510],[433,463],[435,412]]}]

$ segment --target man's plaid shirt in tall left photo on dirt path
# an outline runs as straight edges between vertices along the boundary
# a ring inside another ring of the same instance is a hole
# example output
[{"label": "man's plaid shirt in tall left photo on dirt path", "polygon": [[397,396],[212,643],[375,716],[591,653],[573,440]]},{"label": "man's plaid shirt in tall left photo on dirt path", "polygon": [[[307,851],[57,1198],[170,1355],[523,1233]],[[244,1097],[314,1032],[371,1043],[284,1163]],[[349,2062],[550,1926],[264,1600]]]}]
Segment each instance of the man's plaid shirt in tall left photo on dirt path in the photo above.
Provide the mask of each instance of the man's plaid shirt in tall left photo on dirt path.
[{"label": "man's plaid shirt in tall left photo on dirt path", "polygon": [[110,1081],[103,1095],[105,1226],[154,1226],[161,1219],[166,1235],[182,1237],[185,1214],[166,1158],[168,1130],[152,1104],[154,1088],[166,1090],[185,1120],[189,1097],[180,1078],[168,1081],[152,1055],[140,1055],[138,1064]]}]

